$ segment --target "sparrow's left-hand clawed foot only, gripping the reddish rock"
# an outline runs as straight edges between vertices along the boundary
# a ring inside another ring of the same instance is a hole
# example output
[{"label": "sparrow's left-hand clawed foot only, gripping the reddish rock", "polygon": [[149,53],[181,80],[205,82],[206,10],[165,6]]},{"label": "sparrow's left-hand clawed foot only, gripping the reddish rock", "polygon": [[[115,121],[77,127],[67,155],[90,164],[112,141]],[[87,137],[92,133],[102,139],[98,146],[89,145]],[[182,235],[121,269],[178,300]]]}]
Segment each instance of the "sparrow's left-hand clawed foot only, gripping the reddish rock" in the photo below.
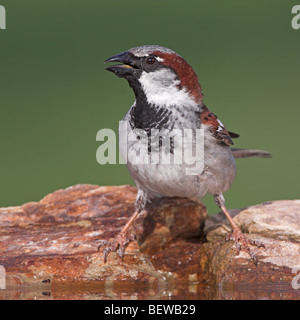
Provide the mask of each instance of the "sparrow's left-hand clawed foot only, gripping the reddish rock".
[{"label": "sparrow's left-hand clawed foot only, gripping the reddish rock", "polygon": [[102,241],[102,243],[98,247],[98,251],[103,246],[104,253],[104,263],[107,261],[107,256],[110,252],[118,253],[119,257],[123,259],[125,247],[126,245],[135,239],[135,235],[133,233],[119,233],[113,241]]}]

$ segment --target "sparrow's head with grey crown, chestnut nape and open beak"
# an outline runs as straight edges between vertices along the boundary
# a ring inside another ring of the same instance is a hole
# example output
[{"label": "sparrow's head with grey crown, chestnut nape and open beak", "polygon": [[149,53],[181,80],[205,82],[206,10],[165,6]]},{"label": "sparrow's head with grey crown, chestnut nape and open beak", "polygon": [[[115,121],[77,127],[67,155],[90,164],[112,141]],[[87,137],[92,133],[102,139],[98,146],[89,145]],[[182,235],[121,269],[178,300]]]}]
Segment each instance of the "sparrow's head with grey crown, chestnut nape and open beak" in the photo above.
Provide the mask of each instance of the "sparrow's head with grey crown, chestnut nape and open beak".
[{"label": "sparrow's head with grey crown, chestnut nape and open beak", "polygon": [[105,60],[122,64],[106,67],[125,78],[136,98],[165,106],[202,103],[203,93],[192,67],[171,49],[150,45],[132,48]]}]

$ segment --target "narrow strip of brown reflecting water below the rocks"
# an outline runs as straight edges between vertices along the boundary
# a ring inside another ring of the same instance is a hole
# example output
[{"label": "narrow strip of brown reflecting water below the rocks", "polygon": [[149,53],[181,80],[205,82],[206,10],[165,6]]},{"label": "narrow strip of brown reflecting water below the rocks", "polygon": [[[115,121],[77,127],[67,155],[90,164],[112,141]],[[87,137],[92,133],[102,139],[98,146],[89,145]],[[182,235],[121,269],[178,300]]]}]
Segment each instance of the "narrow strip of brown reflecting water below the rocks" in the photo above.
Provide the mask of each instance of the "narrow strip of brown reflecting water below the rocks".
[{"label": "narrow strip of brown reflecting water below the rocks", "polygon": [[300,300],[300,289],[295,290],[290,284],[237,284],[233,287],[199,283],[114,288],[98,282],[8,287],[0,290],[0,300]]}]

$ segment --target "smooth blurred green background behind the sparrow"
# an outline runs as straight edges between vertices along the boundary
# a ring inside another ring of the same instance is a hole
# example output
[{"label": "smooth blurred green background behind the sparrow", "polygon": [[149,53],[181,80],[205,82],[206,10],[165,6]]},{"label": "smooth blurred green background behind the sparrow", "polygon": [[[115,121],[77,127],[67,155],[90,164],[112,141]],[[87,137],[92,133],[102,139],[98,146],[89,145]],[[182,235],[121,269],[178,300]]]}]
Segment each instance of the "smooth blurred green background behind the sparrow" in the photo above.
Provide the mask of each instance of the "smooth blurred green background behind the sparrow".
[{"label": "smooth blurred green background behind the sparrow", "polygon": [[[298,2],[298,3],[297,3]],[[144,44],[181,54],[205,103],[239,148],[228,208],[299,198],[299,1],[0,0],[0,206],[78,183],[132,184],[125,165],[100,166],[96,133],[117,130],[134,96],[103,60]],[[217,212],[212,197],[204,202]]]}]

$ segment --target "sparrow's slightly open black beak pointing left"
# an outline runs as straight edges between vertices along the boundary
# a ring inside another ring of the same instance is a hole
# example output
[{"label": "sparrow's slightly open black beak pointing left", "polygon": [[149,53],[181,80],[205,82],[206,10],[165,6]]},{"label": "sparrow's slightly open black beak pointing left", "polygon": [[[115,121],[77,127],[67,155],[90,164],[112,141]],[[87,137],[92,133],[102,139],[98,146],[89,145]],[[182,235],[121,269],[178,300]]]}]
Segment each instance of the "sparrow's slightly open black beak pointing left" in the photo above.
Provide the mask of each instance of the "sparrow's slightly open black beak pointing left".
[{"label": "sparrow's slightly open black beak pointing left", "polygon": [[105,68],[121,78],[132,75],[135,71],[133,67],[134,57],[132,53],[128,51],[116,54],[115,56],[106,59],[104,62],[122,62],[123,64],[117,64]]}]

